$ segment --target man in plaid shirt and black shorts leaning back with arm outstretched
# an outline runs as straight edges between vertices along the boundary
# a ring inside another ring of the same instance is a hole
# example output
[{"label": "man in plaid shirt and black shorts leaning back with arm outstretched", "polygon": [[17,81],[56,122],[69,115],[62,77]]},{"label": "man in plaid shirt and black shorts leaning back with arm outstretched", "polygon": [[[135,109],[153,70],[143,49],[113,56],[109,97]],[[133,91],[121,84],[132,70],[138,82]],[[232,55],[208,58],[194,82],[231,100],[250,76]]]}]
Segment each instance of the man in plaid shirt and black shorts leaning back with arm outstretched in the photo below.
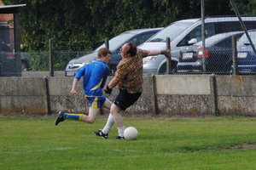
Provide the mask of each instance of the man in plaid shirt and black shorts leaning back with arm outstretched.
[{"label": "man in plaid shirt and black shorts leaning back with arm outstretched", "polygon": [[111,105],[108,122],[102,130],[95,131],[97,136],[108,138],[108,132],[115,122],[119,135],[116,139],[125,139],[125,126],[121,111],[125,111],[133,105],[143,92],[143,58],[150,55],[165,54],[170,57],[170,49],[166,50],[143,50],[137,48],[131,42],[125,43],[120,48],[122,60],[117,65],[117,71],[113,79],[105,88],[106,94],[111,94],[112,88],[119,88],[119,94]]}]

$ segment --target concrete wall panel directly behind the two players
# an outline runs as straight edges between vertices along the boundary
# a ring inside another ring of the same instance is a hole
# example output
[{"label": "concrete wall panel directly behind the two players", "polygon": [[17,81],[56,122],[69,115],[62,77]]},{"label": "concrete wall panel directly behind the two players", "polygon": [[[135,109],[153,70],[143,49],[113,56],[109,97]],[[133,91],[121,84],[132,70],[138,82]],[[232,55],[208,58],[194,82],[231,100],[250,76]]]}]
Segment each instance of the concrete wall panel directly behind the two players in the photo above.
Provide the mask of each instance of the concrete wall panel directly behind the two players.
[{"label": "concrete wall panel directly behind the two players", "polygon": [[[112,77],[108,77],[106,83],[111,80]],[[144,92],[142,97],[137,101],[135,105],[125,111],[126,113],[139,112],[154,113],[154,90],[153,90],[153,77],[144,77]],[[82,80],[82,79],[81,79]],[[77,91],[78,95],[73,96],[70,94],[72,88],[73,77],[48,77],[49,81],[49,103],[51,112],[69,111],[69,112],[88,112],[88,102],[84,97],[84,90],[82,88],[82,81],[79,82]],[[113,88],[112,94],[106,95],[108,99],[113,101],[114,97],[119,93],[117,88]],[[103,110],[102,113],[109,113],[108,110]]]}]

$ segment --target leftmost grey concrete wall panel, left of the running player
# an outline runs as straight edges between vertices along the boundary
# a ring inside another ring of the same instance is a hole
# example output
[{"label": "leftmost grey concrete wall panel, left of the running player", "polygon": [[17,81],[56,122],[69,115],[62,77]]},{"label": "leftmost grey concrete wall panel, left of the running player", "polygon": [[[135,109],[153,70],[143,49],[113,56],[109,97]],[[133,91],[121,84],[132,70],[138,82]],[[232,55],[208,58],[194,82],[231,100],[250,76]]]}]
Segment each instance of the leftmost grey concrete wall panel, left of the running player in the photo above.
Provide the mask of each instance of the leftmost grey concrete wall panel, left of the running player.
[{"label": "leftmost grey concrete wall panel, left of the running player", "polygon": [[1,77],[0,84],[0,112],[48,112],[44,78]]}]

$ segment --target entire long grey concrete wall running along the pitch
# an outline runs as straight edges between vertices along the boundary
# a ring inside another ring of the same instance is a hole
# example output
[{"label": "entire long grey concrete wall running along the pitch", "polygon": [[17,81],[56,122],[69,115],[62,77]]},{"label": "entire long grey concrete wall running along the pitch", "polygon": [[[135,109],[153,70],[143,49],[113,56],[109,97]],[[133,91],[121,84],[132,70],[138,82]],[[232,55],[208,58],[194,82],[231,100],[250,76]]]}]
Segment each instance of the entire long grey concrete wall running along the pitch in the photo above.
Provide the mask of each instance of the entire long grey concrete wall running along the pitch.
[{"label": "entire long grey concrete wall running along the pitch", "polygon": [[[124,115],[256,116],[256,77],[158,75],[143,81],[142,97]],[[88,111],[82,81],[79,94],[70,94],[73,77],[1,77],[0,83],[0,112]],[[114,88],[107,97],[113,100],[118,93]]]}]

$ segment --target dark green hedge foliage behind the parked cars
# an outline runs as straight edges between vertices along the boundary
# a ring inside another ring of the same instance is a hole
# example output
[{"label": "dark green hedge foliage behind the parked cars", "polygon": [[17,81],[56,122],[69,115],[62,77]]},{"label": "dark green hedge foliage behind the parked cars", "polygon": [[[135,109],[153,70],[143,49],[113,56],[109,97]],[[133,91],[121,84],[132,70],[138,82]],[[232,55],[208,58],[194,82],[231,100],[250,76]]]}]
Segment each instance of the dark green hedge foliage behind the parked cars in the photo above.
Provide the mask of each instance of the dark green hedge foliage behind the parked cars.
[{"label": "dark green hedge foliage behind the parked cars", "polygon": [[[240,0],[241,14],[256,13],[256,0]],[[24,51],[92,50],[123,31],[167,26],[174,20],[201,16],[198,0],[3,0],[25,3],[20,12]],[[230,1],[205,1],[206,15],[235,14]],[[243,10],[245,11],[244,13]]]}]

